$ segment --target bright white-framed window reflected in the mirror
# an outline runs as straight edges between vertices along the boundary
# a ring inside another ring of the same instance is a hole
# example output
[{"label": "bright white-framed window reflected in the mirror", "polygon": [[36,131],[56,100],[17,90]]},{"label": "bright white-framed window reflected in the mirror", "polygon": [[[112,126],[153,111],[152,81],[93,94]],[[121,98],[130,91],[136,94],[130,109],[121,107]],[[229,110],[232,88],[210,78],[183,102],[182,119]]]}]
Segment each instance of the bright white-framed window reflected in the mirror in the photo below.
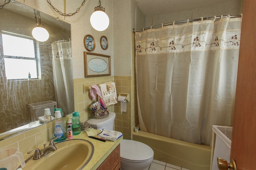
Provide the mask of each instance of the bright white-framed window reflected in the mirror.
[{"label": "bright white-framed window reflected in the mirror", "polygon": [[38,78],[36,42],[29,37],[2,32],[4,67],[7,80]]}]

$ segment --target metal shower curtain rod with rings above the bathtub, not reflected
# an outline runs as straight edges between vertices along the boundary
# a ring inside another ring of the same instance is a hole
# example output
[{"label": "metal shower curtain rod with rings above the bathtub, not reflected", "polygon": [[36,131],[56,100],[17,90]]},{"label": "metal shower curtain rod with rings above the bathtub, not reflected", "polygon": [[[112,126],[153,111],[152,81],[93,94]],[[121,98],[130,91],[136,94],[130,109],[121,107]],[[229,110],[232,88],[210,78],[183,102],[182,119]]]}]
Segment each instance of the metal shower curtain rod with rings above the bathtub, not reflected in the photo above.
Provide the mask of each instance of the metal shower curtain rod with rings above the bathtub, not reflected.
[{"label": "metal shower curtain rod with rings above the bathtub, not reflected", "polygon": [[184,22],[192,22],[192,21],[200,21],[200,20],[212,20],[212,19],[228,18],[228,17],[230,17],[230,18],[240,18],[240,17],[242,17],[242,14],[241,15],[234,15],[234,16],[229,16],[228,15],[228,16],[218,16],[218,17],[216,17],[216,16],[205,17],[205,18],[201,17],[201,18],[192,19],[192,20],[188,19],[188,20],[184,20],[184,21],[174,21],[172,23],[164,23],[164,24],[161,24],[161,25],[154,25],[154,26],[152,25],[151,27],[146,27],[146,28],[142,28],[142,29],[132,29],[132,32],[133,33],[142,32],[146,29],[159,28],[159,27],[163,27],[163,26],[167,26],[167,25],[173,25],[175,23],[184,23]]}]

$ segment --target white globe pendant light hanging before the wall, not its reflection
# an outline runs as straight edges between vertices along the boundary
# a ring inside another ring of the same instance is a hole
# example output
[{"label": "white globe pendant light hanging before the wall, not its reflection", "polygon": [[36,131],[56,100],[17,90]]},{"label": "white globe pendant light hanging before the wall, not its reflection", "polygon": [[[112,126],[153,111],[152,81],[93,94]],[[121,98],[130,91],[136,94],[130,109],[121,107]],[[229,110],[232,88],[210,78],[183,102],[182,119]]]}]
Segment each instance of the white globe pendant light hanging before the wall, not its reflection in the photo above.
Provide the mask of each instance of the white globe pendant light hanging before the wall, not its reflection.
[{"label": "white globe pendant light hanging before the wall, not its reflection", "polygon": [[105,13],[105,8],[101,6],[99,0],[99,6],[94,8],[94,12],[90,17],[91,25],[97,31],[104,31],[108,28],[109,25],[109,18],[108,15]]}]

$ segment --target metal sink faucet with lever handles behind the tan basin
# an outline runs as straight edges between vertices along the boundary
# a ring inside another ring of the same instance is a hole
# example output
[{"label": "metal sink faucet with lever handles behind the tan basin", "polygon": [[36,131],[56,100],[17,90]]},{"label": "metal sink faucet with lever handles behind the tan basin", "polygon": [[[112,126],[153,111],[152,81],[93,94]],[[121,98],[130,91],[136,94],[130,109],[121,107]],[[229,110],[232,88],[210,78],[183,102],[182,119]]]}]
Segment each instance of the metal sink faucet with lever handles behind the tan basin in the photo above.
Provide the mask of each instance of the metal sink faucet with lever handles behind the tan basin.
[{"label": "metal sink faucet with lever handles behind the tan basin", "polygon": [[48,153],[50,153],[52,151],[57,150],[55,145],[54,145],[54,143],[53,143],[53,141],[55,139],[57,139],[57,137],[50,141],[48,147],[45,147],[46,144],[44,144],[44,149],[40,150],[40,149],[36,148],[36,149],[33,149],[33,150],[31,150],[31,151],[29,151],[27,153],[30,154],[30,153],[32,153],[35,150],[34,155],[33,155],[33,160],[38,160],[38,159],[42,158],[43,156],[45,156],[46,154],[48,154]]}]

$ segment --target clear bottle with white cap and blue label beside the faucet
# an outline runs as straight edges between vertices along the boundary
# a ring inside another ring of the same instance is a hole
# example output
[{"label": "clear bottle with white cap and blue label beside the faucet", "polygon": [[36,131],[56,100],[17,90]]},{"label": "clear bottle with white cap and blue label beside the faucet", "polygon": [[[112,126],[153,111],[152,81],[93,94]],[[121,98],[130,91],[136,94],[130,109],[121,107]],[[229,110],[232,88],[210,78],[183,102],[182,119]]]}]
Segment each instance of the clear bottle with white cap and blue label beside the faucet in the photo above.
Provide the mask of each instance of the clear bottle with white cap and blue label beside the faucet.
[{"label": "clear bottle with white cap and blue label beside the faucet", "polygon": [[55,121],[53,126],[53,133],[55,137],[58,137],[54,142],[61,142],[67,138],[67,132],[64,122],[61,119],[60,110],[55,111]]}]

